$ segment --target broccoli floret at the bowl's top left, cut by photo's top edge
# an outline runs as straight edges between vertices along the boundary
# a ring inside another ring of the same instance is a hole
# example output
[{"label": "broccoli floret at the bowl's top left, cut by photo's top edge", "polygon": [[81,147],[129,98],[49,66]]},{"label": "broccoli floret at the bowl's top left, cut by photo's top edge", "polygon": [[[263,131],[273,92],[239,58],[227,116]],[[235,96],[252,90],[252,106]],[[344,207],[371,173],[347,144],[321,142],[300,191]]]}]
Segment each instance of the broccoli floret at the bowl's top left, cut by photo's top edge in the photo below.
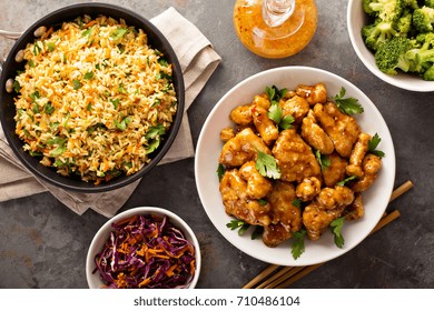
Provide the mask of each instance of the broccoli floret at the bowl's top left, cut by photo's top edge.
[{"label": "broccoli floret at the bowl's top left, cut by photo's top edge", "polygon": [[364,0],[366,13],[376,16],[383,21],[396,21],[404,8],[404,0]]}]

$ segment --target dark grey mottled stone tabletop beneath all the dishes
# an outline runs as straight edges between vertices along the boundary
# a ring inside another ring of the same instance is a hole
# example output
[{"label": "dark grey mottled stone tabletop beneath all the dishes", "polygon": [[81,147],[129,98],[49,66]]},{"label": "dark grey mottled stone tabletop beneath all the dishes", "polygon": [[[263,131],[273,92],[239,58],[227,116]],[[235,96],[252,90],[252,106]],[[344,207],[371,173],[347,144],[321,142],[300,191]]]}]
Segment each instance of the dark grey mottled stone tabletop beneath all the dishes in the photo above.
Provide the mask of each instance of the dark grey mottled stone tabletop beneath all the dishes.
[{"label": "dark grey mottled stone tabletop beneath all the dishes", "polygon": [[[23,30],[47,12],[73,2],[0,0],[0,29]],[[402,217],[358,247],[335,259],[294,288],[434,287],[434,99],[387,86],[353,51],[346,30],[346,0],[317,1],[317,32],[299,54],[267,60],[248,52],[235,36],[235,1],[106,1],[151,18],[175,7],[213,42],[223,62],[188,111],[196,143],[214,104],[231,87],[259,71],[290,64],[328,70],[355,83],[386,120],[396,151],[396,181],[415,184],[392,203]],[[4,56],[10,41],[0,40]],[[1,190],[0,190],[1,191]],[[164,207],[186,219],[203,251],[198,288],[240,288],[268,264],[241,253],[207,218],[195,184],[194,159],[160,165],[142,179],[121,210]],[[77,215],[50,193],[0,203],[0,288],[87,288],[85,261],[89,243],[107,219],[88,211]]]}]

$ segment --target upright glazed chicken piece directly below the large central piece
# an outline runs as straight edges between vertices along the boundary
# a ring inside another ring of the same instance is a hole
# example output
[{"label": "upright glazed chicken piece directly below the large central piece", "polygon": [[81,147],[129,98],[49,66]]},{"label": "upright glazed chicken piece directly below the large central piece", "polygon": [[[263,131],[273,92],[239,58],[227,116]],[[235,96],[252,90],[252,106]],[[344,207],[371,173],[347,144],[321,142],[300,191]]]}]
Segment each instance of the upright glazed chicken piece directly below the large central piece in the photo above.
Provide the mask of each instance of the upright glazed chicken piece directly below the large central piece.
[{"label": "upright glazed chicken piece directly below the large central piece", "polygon": [[297,199],[295,188],[289,182],[276,181],[273,191],[268,193],[267,201],[272,205],[269,215],[272,222],[283,223],[289,231],[299,231],[302,228],[302,211],[293,205]]}]

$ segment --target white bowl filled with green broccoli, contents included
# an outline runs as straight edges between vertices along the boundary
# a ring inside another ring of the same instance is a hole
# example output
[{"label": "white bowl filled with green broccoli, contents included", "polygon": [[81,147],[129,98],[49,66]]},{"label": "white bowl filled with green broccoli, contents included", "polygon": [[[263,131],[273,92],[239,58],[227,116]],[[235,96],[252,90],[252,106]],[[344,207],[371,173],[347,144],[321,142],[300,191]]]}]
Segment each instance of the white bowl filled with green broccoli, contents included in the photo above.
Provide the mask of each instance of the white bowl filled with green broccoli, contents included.
[{"label": "white bowl filled with green broccoli, contents included", "polygon": [[434,0],[349,0],[347,28],[376,77],[401,89],[434,91]]}]

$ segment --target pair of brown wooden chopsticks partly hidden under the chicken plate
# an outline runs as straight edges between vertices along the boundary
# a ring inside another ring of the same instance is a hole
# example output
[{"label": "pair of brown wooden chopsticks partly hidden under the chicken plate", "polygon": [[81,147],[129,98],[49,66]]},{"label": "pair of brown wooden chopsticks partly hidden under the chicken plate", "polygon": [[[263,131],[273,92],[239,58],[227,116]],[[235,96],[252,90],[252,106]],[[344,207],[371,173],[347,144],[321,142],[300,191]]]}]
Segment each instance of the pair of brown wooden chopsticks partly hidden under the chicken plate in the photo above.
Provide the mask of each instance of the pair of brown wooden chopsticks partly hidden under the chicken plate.
[{"label": "pair of brown wooden chopsticks partly hidden under the chicken plate", "polygon": [[[402,185],[400,185],[397,189],[395,189],[392,192],[389,202],[398,198],[400,195],[404,194],[407,192],[410,189],[413,188],[413,182],[412,181],[406,181]],[[375,225],[375,228],[371,231],[369,235],[373,234],[374,232],[378,231],[383,227],[387,225],[395,219],[400,217],[398,211],[393,211],[391,213],[384,213],[379,222]],[[265,269],[263,272],[260,272],[257,277],[255,277],[251,281],[249,281],[247,284],[243,287],[243,289],[251,289],[257,288],[257,289],[268,289],[268,288],[286,288],[287,285],[294,283],[295,281],[302,279],[303,277],[307,275],[315,269],[319,268],[324,263],[318,263],[318,264],[313,264],[313,265],[307,265],[307,267],[285,267],[282,268],[277,264],[270,264],[267,269]],[[276,274],[269,277],[274,271],[278,270],[282,268]]]}]

